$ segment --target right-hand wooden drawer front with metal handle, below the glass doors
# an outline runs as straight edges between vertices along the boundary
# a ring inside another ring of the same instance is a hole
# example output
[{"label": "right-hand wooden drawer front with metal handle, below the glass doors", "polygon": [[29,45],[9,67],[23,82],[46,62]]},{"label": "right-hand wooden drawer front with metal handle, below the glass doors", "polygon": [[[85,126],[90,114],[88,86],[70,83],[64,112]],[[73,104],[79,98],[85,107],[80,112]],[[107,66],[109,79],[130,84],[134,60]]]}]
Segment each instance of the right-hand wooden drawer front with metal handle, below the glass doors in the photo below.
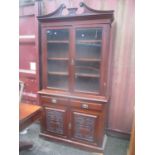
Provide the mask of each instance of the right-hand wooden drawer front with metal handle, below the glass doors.
[{"label": "right-hand wooden drawer front with metal handle, below the glass doors", "polygon": [[77,101],[77,100],[71,100],[71,106],[74,108],[80,108],[80,109],[89,109],[89,110],[103,110],[103,104],[99,103],[91,103],[91,102],[85,102],[85,101]]}]

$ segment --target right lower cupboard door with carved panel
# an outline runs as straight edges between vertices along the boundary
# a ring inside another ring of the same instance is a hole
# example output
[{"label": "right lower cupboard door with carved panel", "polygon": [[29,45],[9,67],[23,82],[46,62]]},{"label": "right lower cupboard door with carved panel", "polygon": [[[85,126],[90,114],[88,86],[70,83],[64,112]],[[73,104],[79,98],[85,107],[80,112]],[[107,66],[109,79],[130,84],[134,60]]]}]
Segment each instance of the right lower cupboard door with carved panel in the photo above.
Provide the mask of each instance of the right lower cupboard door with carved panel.
[{"label": "right lower cupboard door with carved panel", "polygon": [[101,124],[98,112],[72,110],[71,139],[98,145],[102,139]]}]

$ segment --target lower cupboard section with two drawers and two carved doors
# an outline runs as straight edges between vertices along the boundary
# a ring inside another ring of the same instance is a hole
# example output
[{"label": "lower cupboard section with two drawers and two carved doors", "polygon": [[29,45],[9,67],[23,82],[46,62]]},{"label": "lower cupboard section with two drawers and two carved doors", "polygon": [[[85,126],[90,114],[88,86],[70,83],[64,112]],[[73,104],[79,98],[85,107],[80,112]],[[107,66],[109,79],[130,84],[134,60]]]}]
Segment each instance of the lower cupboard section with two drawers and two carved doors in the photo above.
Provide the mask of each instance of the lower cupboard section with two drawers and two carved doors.
[{"label": "lower cupboard section with two drawers and two carved doors", "polygon": [[40,135],[88,150],[103,151],[106,103],[40,96]]}]

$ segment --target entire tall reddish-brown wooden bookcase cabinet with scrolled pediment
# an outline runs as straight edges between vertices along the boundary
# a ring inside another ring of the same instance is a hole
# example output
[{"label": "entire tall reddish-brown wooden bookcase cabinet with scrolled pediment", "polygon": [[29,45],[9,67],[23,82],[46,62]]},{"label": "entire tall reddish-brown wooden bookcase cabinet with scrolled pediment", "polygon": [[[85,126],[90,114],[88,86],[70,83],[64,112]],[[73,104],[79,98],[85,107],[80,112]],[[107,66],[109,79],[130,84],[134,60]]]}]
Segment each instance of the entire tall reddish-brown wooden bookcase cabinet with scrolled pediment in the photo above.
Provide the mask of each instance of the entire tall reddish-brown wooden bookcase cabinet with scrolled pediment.
[{"label": "entire tall reddish-brown wooden bookcase cabinet with scrolled pediment", "polygon": [[41,26],[41,136],[103,151],[110,86],[110,29],[113,11],[80,3],[39,16]]}]

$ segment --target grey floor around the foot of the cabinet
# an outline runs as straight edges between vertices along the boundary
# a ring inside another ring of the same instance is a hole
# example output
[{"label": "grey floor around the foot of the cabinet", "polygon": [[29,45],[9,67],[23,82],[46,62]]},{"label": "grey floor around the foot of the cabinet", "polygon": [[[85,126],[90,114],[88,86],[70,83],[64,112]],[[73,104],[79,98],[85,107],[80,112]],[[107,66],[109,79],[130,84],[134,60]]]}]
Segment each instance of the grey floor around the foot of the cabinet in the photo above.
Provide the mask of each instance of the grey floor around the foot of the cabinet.
[{"label": "grey floor around the foot of the cabinet", "polygon": [[[60,143],[50,142],[40,138],[39,125],[29,127],[27,134],[20,134],[20,140],[34,143],[31,150],[21,151],[20,155],[101,155],[101,153],[87,152]],[[127,155],[128,140],[108,136],[104,155]]]}]

